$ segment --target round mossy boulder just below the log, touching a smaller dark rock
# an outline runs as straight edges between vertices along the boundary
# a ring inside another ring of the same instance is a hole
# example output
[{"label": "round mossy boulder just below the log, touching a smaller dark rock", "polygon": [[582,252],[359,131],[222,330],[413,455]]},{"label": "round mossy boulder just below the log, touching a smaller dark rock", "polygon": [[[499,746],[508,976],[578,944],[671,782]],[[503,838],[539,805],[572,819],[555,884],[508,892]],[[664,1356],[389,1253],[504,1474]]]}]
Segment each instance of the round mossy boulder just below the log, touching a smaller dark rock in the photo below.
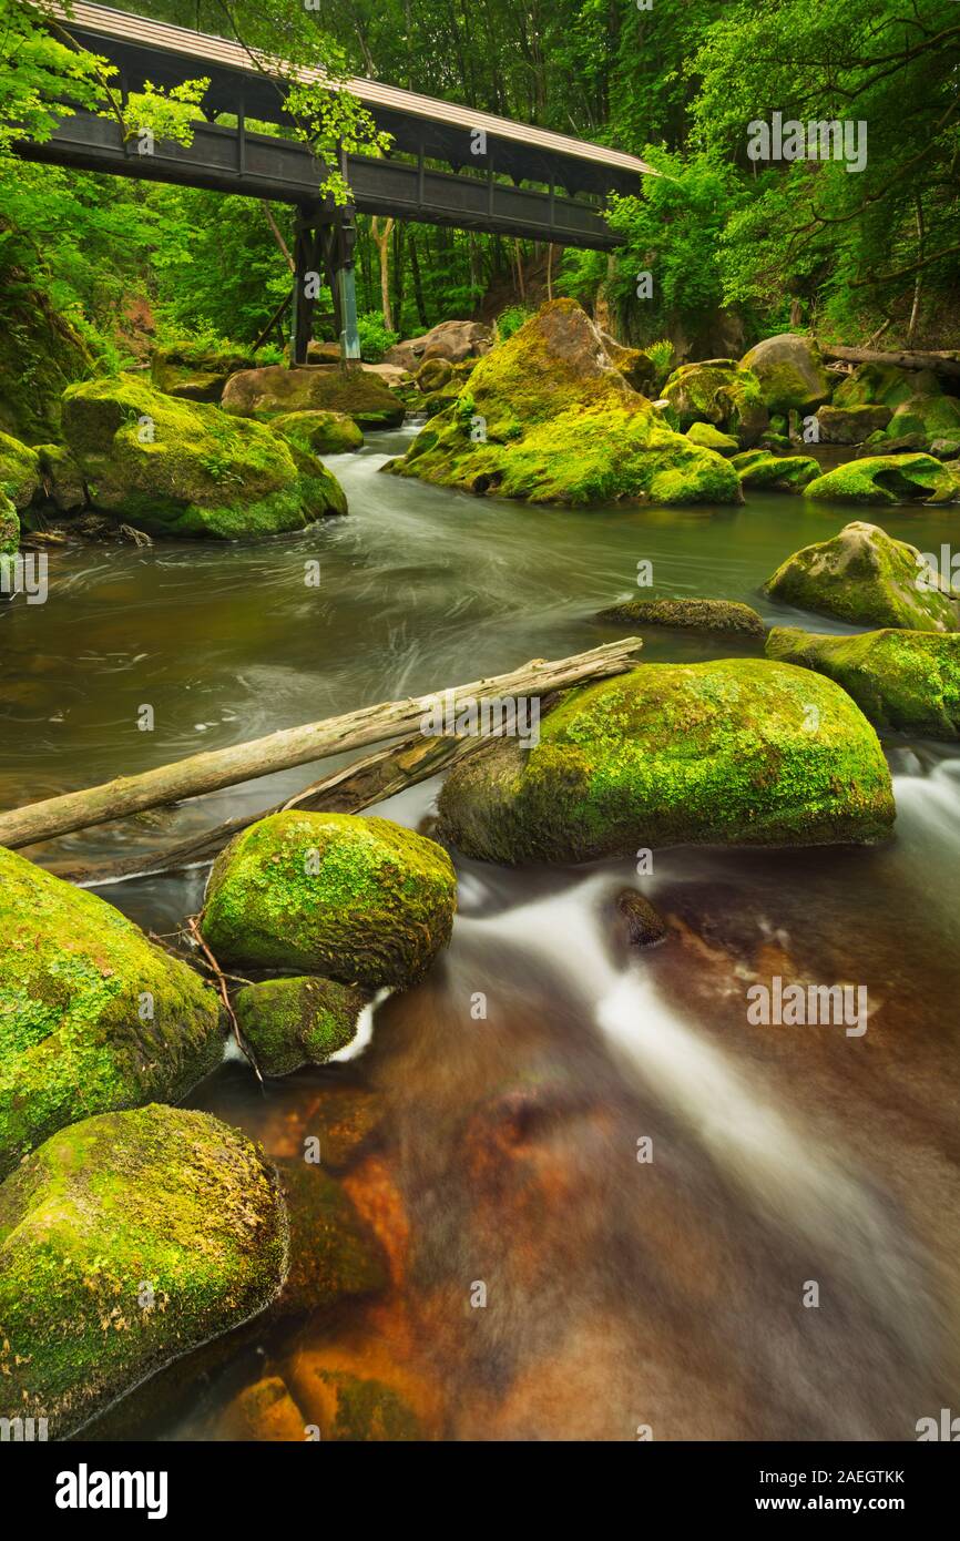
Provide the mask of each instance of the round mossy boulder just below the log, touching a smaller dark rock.
[{"label": "round mossy boulder just below the log, touching a smaller dark rock", "polygon": [[410,985],[450,940],[456,877],[387,818],[273,814],[217,857],[202,929],[217,959],[368,988]]}]

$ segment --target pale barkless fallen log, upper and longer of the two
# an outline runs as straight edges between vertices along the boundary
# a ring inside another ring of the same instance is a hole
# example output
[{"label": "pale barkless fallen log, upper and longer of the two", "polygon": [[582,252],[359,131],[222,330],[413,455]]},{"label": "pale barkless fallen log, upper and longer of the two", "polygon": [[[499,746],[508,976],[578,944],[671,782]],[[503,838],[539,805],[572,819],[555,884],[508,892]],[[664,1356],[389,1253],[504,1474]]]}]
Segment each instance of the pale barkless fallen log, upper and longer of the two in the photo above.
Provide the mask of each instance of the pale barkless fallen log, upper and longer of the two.
[{"label": "pale barkless fallen log, upper and longer of the two", "polygon": [[117,777],[114,781],[82,792],[48,797],[42,803],[29,803],[26,807],[0,814],[0,846],[12,849],[32,846],[55,835],[68,835],[74,829],[91,829],[94,824],[140,814],[146,807],[179,803],[203,792],[219,792],[225,786],[273,775],[276,770],[290,770],[311,760],[325,760],[348,749],[416,734],[424,718],[453,721],[464,707],[476,707],[482,701],[539,698],[550,690],[581,684],[584,680],[624,673],[635,667],[633,655],[641,646],[638,636],[627,636],[553,663],[535,658],[521,669],[488,680],[433,690],[430,695],[410,697],[405,701],[381,701],[342,717],[328,717],[302,727],[284,727],[263,738],[231,744],[228,749],[190,755],[186,760],[157,766],[156,770]]}]

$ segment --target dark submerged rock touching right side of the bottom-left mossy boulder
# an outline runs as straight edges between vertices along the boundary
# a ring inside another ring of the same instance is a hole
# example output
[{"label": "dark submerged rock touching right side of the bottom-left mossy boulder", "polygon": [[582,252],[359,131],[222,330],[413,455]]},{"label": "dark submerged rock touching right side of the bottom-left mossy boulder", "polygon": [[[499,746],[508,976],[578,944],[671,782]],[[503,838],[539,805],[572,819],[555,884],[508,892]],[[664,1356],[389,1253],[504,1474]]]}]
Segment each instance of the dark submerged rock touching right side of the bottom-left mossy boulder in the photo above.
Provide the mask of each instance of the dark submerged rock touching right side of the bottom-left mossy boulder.
[{"label": "dark submerged rock touching right side of the bottom-left mossy boulder", "polygon": [[300,1157],[276,1165],[290,1217],[290,1268],[273,1314],[330,1310],[382,1290],[381,1248],[341,1183]]}]

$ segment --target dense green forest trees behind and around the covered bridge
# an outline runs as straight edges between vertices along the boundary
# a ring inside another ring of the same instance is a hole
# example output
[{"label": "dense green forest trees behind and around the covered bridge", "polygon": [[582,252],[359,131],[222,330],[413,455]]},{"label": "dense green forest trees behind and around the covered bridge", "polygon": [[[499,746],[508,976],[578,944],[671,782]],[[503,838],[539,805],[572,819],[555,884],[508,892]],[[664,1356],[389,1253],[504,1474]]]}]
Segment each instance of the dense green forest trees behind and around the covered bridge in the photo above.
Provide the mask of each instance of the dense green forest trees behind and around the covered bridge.
[{"label": "dense green forest trees behind and around the covered bridge", "polygon": [[[495,319],[573,294],[624,341],[740,353],[789,327],[883,347],[960,342],[960,5],[955,0],[140,0],[240,35],[644,156],[664,173],[610,219],[615,256],[359,220],[362,337]],[[22,0],[9,80],[32,68]],[[12,76],[11,76],[12,66]],[[755,165],[774,111],[868,123],[861,174]],[[3,114],[6,112],[6,119]],[[154,342],[250,344],[290,285],[290,210],[20,162],[0,137],[0,367],[29,384],[49,350],[116,368]],[[638,299],[636,274],[653,274]],[[505,325],[509,324],[505,321]],[[282,334],[274,336],[279,348]]]}]

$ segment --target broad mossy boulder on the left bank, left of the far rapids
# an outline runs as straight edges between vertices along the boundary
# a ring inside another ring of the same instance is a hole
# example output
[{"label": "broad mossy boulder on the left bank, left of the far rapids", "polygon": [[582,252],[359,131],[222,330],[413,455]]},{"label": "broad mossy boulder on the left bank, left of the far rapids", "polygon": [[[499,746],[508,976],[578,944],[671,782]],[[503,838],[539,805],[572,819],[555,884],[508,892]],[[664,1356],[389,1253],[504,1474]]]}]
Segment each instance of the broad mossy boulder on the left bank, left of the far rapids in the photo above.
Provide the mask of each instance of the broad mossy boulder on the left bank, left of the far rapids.
[{"label": "broad mossy boulder on the left bank, left of the far rapids", "polygon": [[151,535],[257,539],[347,512],[313,455],[129,374],[65,391],[63,430],[94,507]]}]

